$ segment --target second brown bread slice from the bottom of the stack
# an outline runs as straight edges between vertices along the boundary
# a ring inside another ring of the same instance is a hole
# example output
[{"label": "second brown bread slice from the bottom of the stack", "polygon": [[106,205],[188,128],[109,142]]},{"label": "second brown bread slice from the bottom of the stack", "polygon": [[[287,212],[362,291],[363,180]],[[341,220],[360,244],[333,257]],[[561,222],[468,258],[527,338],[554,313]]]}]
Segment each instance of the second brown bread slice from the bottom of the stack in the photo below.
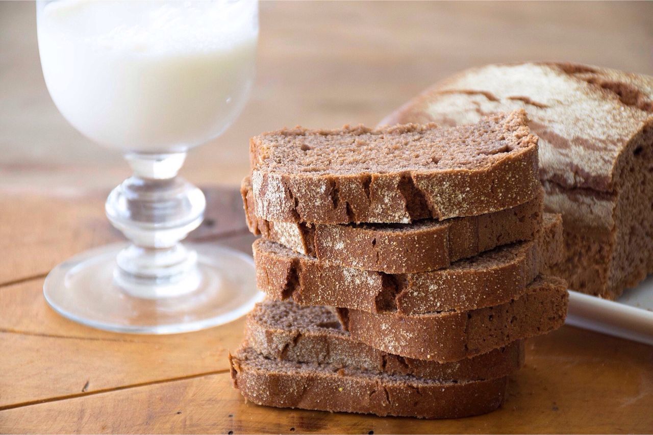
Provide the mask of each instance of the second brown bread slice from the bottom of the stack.
[{"label": "second brown bread slice from the bottom of the stack", "polygon": [[439,363],[404,358],[351,338],[333,308],[265,300],[247,316],[246,340],[270,359],[317,362],[375,373],[441,381],[479,381],[507,376],[524,364],[517,340],[469,359]]}]

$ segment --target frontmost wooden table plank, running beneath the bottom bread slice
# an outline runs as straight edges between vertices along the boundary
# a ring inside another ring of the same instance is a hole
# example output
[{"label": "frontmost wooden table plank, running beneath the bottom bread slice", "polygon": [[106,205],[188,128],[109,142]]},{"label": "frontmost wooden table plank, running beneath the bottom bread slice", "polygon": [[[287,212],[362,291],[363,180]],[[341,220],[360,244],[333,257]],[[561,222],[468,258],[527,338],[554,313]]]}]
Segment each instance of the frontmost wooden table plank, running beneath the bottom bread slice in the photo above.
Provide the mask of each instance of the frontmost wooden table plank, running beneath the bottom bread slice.
[{"label": "frontmost wooden table plank, running beneath the bottom bread slice", "polygon": [[[228,373],[0,411],[0,431],[72,433],[643,433],[653,348],[564,327],[530,340],[502,409],[424,421],[246,404]],[[231,433],[231,432],[230,432]]]}]

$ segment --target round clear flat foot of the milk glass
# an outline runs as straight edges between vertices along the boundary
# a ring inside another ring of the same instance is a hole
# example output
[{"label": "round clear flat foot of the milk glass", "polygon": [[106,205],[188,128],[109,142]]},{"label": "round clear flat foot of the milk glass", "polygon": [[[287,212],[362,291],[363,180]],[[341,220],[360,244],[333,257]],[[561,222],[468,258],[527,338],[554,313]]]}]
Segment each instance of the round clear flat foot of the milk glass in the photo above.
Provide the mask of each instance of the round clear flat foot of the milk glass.
[{"label": "round clear flat foot of the milk glass", "polygon": [[101,246],[56,266],[43,285],[48,304],[64,317],[97,329],[174,334],[228,323],[263,299],[251,257],[206,243],[184,244],[197,251],[197,290],[174,297],[133,297],[114,282],[116,255],[126,246]]}]

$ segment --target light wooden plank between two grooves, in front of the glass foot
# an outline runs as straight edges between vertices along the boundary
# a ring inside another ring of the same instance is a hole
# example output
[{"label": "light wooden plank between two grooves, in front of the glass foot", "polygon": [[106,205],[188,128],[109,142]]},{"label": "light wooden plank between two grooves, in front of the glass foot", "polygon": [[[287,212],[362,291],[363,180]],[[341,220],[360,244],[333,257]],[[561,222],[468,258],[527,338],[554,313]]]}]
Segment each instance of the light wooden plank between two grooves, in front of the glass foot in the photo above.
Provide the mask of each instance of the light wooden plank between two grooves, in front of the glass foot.
[{"label": "light wooden plank between two grooves, in front of the glass foot", "polygon": [[0,301],[5,307],[0,343],[11,349],[0,353],[0,409],[224,372],[227,353],[238,346],[244,330],[244,319],[173,336],[81,327],[50,310],[42,280],[5,287]]}]

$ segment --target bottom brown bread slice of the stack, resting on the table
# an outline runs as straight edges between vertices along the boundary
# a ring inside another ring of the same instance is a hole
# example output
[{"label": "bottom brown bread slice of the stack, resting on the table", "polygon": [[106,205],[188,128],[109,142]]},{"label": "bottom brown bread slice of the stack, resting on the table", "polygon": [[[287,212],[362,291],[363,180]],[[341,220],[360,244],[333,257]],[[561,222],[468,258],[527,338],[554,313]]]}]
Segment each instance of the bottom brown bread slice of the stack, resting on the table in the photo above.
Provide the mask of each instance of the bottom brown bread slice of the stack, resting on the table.
[{"label": "bottom brown bread slice of the stack, resting on the table", "polygon": [[499,408],[508,377],[442,382],[374,374],[332,364],[267,359],[245,344],[229,355],[231,378],[249,402],[279,408],[427,419],[479,415]]}]

